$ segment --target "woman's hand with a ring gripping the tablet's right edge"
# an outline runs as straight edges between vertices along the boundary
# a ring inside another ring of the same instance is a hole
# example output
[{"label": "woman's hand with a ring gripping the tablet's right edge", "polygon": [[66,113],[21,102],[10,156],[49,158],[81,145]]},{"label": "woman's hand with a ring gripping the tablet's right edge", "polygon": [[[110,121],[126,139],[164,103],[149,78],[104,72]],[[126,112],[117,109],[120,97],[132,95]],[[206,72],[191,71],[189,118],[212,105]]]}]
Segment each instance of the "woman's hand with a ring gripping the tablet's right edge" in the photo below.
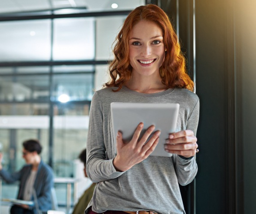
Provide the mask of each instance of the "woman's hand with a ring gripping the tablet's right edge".
[{"label": "woman's hand with a ring gripping the tablet's right edge", "polygon": [[191,130],[183,130],[169,135],[164,149],[172,154],[179,154],[183,157],[190,158],[196,153],[197,138]]}]

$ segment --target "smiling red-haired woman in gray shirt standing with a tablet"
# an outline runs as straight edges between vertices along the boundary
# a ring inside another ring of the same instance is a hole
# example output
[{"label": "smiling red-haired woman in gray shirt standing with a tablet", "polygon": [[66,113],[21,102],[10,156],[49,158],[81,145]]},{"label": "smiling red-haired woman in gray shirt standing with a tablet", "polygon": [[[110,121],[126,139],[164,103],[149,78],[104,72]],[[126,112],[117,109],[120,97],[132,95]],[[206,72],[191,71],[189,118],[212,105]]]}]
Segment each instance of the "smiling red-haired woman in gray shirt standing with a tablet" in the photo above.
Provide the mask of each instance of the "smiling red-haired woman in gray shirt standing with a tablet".
[{"label": "smiling red-haired woman in gray shirt standing with a tablet", "polygon": [[[114,54],[111,80],[94,94],[90,110],[87,173],[98,184],[86,212],[185,213],[178,184],[189,184],[197,173],[199,98],[168,16],[153,4],[134,9],[117,36]],[[112,102],[179,103],[177,132],[165,144],[172,157],[150,156],[160,135],[154,126],[146,127],[138,141],[143,128],[138,124],[124,144],[122,133],[111,132]]]}]

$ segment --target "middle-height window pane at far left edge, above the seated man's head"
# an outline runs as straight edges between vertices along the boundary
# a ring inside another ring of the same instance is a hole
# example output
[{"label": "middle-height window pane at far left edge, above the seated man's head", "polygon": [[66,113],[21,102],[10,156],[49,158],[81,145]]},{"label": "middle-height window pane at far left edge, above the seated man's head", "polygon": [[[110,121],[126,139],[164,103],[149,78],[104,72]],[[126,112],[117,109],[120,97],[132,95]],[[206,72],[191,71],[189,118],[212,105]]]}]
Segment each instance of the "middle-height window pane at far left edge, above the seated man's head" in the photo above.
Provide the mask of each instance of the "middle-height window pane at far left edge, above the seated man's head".
[{"label": "middle-height window pane at far left edge, above the seated man's head", "polygon": [[2,101],[49,101],[49,76],[1,77],[0,89]]}]

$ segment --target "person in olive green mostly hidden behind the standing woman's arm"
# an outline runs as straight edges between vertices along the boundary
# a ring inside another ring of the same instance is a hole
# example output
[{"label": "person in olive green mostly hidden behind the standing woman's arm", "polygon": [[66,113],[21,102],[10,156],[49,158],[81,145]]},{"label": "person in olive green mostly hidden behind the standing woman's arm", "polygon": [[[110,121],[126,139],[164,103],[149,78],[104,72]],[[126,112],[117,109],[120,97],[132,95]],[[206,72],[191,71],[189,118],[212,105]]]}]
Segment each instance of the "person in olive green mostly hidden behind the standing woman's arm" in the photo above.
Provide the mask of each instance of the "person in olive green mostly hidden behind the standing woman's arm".
[{"label": "person in olive green mostly hidden behind the standing woman's arm", "polygon": [[[84,163],[84,176],[87,177],[86,173],[86,149],[79,154],[79,159]],[[74,207],[72,214],[84,214],[88,203],[93,197],[93,191],[96,183],[93,183],[88,189],[85,190],[84,194],[79,198],[79,201]]]}]

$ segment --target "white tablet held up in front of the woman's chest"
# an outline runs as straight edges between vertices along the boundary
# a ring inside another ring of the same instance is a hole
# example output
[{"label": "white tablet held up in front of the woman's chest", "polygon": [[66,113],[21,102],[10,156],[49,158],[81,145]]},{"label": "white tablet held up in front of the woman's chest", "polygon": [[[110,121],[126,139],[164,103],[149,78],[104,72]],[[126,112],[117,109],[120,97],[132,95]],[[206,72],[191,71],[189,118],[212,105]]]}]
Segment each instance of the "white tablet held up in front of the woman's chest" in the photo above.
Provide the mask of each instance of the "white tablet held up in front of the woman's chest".
[{"label": "white tablet held up in front of the woman's chest", "polygon": [[171,157],[172,154],[164,150],[164,144],[169,134],[176,132],[179,107],[178,103],[111,103],[115,153],[117,132],[120,131],[123,140],[129,142],[138,124],[143,122],[140,138],[151,125],[155,126],[154,131],[161,131],[159,143],[151,155]]}]

